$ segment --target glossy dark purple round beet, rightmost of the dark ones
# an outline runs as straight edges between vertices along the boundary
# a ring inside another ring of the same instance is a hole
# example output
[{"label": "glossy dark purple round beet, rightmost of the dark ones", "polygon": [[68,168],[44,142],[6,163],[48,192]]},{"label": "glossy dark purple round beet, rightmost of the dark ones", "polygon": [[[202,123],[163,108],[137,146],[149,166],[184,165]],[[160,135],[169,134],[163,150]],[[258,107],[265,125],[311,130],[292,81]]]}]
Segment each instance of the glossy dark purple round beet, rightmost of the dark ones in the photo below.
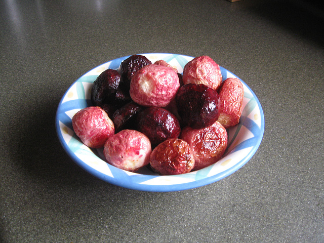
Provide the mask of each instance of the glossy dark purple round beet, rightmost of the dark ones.
[{"label": "glossy dark purple round beet, rightmost of the dark ones", "polygon": [[206,85],[180,87],[176,104],[183,124],[195,129],[208,127],[219,117],[218,93]]}]

